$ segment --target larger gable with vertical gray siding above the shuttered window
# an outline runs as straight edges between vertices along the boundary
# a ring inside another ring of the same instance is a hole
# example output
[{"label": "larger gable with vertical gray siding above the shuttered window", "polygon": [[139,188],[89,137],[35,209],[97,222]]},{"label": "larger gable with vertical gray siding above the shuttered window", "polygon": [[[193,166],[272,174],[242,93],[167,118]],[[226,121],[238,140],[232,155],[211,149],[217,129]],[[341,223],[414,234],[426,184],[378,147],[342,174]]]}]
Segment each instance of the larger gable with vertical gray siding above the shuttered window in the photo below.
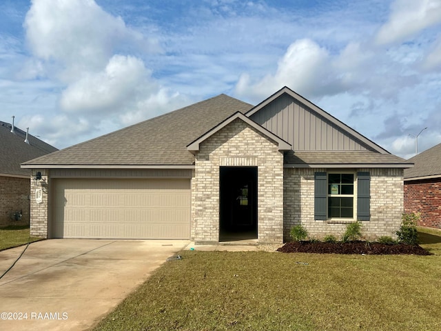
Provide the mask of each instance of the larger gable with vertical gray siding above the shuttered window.
[{"label": "larger gable with vertical gray siding above the shuttered window", "polygon": [[390,154],[286,86],[246,113],[293,150],[371,150]]}]

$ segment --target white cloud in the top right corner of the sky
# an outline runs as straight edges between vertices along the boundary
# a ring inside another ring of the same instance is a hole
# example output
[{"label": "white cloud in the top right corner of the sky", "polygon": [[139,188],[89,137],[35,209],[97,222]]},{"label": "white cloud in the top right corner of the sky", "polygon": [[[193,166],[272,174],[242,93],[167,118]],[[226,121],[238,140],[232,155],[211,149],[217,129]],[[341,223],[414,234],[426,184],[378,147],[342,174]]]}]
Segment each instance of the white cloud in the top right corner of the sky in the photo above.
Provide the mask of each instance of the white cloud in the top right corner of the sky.
[{"label": "white cloud in the top right corner of the sky", "polygon": [[389,21],[378,31],[376,41],[380,45],[404,41],[439,23],[440,0],[396,0],[391,5]]}]

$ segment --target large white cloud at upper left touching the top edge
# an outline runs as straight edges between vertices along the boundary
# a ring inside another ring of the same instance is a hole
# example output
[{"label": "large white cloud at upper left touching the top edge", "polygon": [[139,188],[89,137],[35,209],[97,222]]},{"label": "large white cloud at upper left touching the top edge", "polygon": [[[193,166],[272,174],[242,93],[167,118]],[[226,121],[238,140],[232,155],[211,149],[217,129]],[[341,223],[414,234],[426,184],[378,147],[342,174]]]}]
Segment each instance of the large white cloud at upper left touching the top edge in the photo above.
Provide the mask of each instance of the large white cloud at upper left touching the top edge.
[{"label": "large white cloud at upper left touching the top edge", "polygon": [[160,50],[155,39],[128,28],[93,0],[33,0],[23,26],[34,56],[61,66],[65,81],[101,70],[119,50]]}]

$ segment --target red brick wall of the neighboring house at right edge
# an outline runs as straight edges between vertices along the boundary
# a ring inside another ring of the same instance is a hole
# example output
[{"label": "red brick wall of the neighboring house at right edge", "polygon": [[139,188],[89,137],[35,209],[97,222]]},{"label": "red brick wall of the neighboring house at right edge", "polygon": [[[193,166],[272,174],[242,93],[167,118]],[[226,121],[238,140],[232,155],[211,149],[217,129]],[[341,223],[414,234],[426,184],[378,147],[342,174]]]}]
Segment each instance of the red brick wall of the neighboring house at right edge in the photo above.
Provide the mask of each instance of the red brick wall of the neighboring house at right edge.
[{"label": "red brick wall of the neighboring house at right edge", "polygon": [[404,181],[404,212],[420,212],[419,225],[441,229],[441,178]]}]

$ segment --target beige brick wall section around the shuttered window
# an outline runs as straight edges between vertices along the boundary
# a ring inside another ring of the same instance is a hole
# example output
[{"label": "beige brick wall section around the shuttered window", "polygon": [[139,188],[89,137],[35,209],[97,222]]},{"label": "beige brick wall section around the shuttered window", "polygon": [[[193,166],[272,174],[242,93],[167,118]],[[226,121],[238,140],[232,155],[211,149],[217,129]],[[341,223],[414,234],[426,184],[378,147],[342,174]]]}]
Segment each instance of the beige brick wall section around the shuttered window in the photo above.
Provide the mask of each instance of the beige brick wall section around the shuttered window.
[{"label": "beige brick wall section around the shuttered window", "polygon": [[[346,223],[314,220],[314,172],[327,169],[285,168],[284,171],[284,240],[290,240],[289,230],[302,224],[311,237],[327,234],[340,237]],[[332,169],[334,171],[334,169]],[[342,170],[344,172],[345,170]],[[360,168],[348,171],[367,171],[371,175],[371,220],[362,221],[367,239],[380,236],[396,237],[403,212],[403,170]]]}]

